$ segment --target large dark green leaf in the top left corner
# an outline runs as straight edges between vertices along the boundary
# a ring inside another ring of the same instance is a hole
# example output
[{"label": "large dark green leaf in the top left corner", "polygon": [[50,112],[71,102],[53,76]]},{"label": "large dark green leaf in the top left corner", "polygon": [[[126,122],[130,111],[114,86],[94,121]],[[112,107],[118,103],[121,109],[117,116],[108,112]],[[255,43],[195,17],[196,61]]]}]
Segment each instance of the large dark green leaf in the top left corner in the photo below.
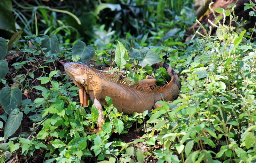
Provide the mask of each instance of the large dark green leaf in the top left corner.
[{"label": "large dark green leaf in the top left corner", "polygon": [[15,21],[12,14],[12,1],[0,1],[0,29],[15,31]]}]

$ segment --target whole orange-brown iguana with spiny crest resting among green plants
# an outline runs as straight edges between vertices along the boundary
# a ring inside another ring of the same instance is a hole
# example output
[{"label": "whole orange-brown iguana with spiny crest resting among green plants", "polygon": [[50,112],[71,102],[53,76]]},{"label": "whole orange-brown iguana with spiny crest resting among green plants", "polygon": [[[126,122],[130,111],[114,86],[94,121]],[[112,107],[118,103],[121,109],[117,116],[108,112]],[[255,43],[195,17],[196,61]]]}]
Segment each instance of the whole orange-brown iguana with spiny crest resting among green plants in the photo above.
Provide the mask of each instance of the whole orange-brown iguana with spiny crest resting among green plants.
[{"label": "whole orange-brown iguana with spiny crest resting among green plants", "polygon": [[102,105],[106,105],[106,96],[112,99],[114,107],[119,112],[125,114],[142,113],[145,110],[151,112],[156,101],[173,101],[177,98],[180,91],[180,81],[177,73],[165,63],[155,63],[151,67],[159,68],[159,66],[167,70],[171,80],[167,85],[155,89],[149,86],[150,79],[145,79],[139,83],[134,83],[129,79],[120,80],[120,75],[101,73],[84,63],[65,63],[64,69],[79,88],[81,105],[87,106],[88,99],[91,99],[93,105],[97,107],[99,111],[98,129],[93,130],[97,133],[101,130],[105,120]]}]

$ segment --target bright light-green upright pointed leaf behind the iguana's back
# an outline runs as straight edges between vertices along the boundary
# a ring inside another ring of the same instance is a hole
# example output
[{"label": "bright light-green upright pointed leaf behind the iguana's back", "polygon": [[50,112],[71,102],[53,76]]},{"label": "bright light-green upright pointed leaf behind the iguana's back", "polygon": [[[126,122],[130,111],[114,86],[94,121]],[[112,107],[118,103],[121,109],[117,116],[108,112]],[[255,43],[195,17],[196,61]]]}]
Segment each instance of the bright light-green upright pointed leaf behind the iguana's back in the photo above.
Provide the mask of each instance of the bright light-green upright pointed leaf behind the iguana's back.
[{"label": "bright light-green upright pointed leaf behind the iguana's back", "polygon": [[126,48],[124,48],[124,45],[120,41],[117,41],[116,52],[115,52],[115,61],[116,61],[116,65],[120,69],[123,69],[124,65],[126,64],[126,61],[124,59],[125,56],[128,56],[128,52],[127,52]]}]

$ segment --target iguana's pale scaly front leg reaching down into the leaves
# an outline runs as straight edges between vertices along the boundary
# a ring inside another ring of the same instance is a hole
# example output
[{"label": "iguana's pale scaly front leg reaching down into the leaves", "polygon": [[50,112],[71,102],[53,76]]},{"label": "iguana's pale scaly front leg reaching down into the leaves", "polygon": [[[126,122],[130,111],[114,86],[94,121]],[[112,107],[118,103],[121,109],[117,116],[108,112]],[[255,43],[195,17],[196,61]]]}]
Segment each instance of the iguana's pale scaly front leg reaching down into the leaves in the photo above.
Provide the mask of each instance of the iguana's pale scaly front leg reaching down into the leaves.
[{"label": "iguana's pale scaly front leg reaching down into the leaves", "polygon": [[105,122],[105,118],[103,116],[103,109],[102,109],[102,106],[100,105],[100,101],[95,98],[92,105],[94,105],[99,111],[99,117],[97,120],[98,129],[94,129],[94,130],[91,130],[90,128],[88,129],[94,133],[98,133],[102,130],[102,125]]}]

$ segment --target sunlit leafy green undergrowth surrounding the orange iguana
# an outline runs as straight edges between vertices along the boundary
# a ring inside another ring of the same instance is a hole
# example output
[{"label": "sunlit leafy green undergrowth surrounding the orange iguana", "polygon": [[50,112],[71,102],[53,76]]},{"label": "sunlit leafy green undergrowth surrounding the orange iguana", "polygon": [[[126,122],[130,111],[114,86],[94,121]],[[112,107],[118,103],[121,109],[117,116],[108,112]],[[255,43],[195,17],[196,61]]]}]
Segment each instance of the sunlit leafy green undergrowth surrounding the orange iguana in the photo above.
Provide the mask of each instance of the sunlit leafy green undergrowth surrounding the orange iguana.
[{"label": "sunlit leafy green undergrowth surrounding the orange iguana", "polygon": [[[254,5],[247,4],[249,7]],[[233,10],[223,13],[224,22],[229,19],[230,22],[241,23]],[[63,56],[81,61],[83,54],[79,50],[75,53],[73,48],[49,47],[44,40],[54,42],[55,35],[27,36],[20,40],[25,44],[23,47],[18,42],[14,43],[13,46],[23,53],[19,57],[21,62],[12,64],[12,80],[3,77],[1,82],[6,85],[5,89],[14,91],[17,96],[21,95],[20,89],[17,85],[10,87],[12,81],[20,85],[25,96],[27,89],[28,92],[36,92],[39,97],[34,101],[20,100],[21,104],[6,109],[6,113],[1,115],[0,125],[4,132],[7,132],[6,129],[15,132],[23,115],[34,123],[30,133],[20,133],[15,137],[11,137],[14,132],[4,133],[0,139],[3,141],[0,144],[1,162],[18,155],[29,157],[35,151],[44,153],[44,162],[143,163],[148,162],[150,157],[159,163],[255,162],[256,53],[255,43],[251,42],[253,33],[237,33],[231,23],[225,25],[224,22],[212,23],[213,28],[217,28],[216,36],[212,35],[211,27],[206,32],[198,22],[204,33],[196,32],[201,38],[190,41],[191,45],[186,49],[157,46],[150,49],[130,47],[126,50],[123,45],[126,42],[118,41],[116,51],[108,53],[111,59],[108,57],[107,63],[111,69],[114,67],[112,71],[124,69],[127,77],[137,81],[145,78],[146,74],[154,74],[161,83],[165,81],[160,78],[164,76],[164,70],[152,70],[145,62],[167,62],[180,74],[180,95],[171,103],[160,101],[163,107],[151,113],[145,111],[132,115],[118,113],[111,99],[106,97],[106,122],[98,134],[87,133],[87,126],[91,127],[97,121],[97,109],[91,105],[81,107],[75,102],[78,88],[60,70],[52,69],[55,66],[53,63],[63,59]],[[18,37],[15,38],[18,40]],[[82,41],[77,43],[74,46],[92,49]],[[54,53],[53,49],[60,51]],[[100,53],[96,51],[99,60],[102,59]],[[105,51],[103,53],[106,54]],[[93,56],[94,53],[89,54],[85,61]],[[35,63],[39,66],[36,67]],[[32,71],[27,69],[31,64],[34,65]],[[21,69],[27,73],[15,75]],[[31,88],[30,81],[35,80],[34,72],[38,71],[42,72],[36,76],[40,84]],[[5,109],[3,97],[0,101]],[[15,125],[9,124],[8,120],[15,122]],[[111,137],[113,134],[129,133],[135,124],[141,124],[139,130],[145,133],[134,141],[125,143]]]}]

